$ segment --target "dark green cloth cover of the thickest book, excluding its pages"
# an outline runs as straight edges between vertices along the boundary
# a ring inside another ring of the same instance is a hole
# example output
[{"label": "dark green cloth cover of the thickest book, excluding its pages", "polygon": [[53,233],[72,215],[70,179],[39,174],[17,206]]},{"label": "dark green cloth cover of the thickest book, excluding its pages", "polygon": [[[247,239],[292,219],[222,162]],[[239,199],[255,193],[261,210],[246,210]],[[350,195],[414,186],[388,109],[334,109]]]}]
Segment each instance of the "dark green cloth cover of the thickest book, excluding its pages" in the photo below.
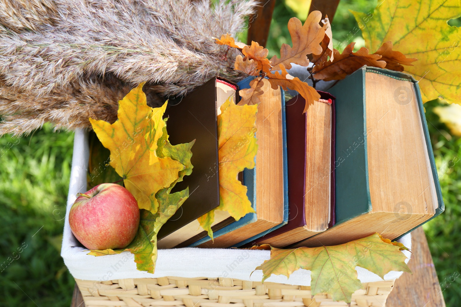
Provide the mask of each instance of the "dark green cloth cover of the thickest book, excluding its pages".
[{"label": "dark green cloth cover of the thickest book, excluding its pages", "polygon": [[[337,98],[336,101],[336,225],[349,220],[359,214],[372,210],[368,182],[367,149],[366,149],[366,104],[365,104],[365,73],[373,72],[392,78],[411,81],[416,93],[416,100],[420,111],[420,119],[426,140],[427,152],[431,165],[431,172],[435,182],[438,208],[434,218],[445,209],[442,192],[438,181],[437,168],[434,162],[431,140],[427,129],[426,116],[421,100],[418,82],[410,75],[375,67],[364,66],[340,81],[330,89],[330,93]],[[347,93],[347,94],[344,94]],[[361,101],[362,103],[356,103]],[[354,103],[355,102],[355,103]],[[355,154],[344,158],[344,149],[363,136],[363,145],[355,149]],[[341,159],[341,157],[343,157]],[[365,171],[357,166],[361,165]],[[432,219],[431,218],[431,219]],[[431,220],[429,219],[429,220]],[[413,230],[413,229],[412,229]]]}]

